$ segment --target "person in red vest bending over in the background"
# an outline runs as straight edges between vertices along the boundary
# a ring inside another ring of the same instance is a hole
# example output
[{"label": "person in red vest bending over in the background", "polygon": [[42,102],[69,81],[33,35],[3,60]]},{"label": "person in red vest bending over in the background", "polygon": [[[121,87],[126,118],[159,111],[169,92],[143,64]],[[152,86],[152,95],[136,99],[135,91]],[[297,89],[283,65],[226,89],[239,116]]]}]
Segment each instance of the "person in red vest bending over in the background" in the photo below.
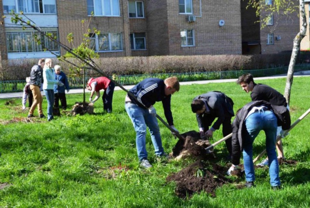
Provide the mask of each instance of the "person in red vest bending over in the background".
[{"label": "person in red vest bending over in the background", "polygon": [[[104,90],[102,101],[103,111],[112,113],[112,100],[115,84],[105,76],[90,78],[86,85],[87,90],[90,92],[89,102],[95,103],[100,97],[100,90]],[[96,92],[96,97],[92,100]]]}]

